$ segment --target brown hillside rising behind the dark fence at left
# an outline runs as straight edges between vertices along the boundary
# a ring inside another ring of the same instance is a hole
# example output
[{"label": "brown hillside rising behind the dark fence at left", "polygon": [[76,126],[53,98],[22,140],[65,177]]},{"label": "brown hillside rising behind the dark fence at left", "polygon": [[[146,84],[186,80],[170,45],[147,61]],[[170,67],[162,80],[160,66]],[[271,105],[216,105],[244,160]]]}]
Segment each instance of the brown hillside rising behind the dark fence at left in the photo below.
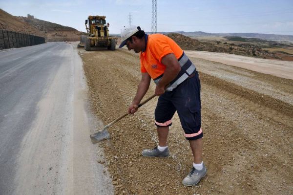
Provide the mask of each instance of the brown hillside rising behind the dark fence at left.
[{"label": "brown hillside rising behind the dark fence at left", "polygon": [[75,28],[29,17],[15,17],[0,9],[0,29],[23,32],[52,39],[79,40],[84,34]]}]

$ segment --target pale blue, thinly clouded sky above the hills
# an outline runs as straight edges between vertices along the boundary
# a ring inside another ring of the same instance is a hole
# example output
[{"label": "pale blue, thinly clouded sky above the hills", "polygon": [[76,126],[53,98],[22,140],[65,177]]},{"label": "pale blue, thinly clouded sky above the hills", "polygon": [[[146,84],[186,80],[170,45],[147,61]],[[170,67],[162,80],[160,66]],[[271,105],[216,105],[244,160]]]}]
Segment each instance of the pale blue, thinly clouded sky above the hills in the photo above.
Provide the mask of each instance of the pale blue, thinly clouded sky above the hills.
[{"label": "pale blue, thinly clouded sky above the hills", "polygon": [[[111,34],[130,22],[146,32],[152,25],[152,0],[0,0],[0,8],[83,32],[89,15],[106,16]],[[157,0],[161,31],[293,35],[293,0]]]}]

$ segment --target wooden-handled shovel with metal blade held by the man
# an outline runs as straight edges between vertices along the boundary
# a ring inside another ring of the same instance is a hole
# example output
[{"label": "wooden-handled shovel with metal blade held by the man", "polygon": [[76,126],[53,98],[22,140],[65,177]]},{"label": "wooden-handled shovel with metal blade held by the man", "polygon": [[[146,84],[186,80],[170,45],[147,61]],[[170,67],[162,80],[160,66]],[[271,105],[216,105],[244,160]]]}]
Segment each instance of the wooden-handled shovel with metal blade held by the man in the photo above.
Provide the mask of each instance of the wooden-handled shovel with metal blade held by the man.
[{"label": "wooden-handled shovel with metal blade held by the man", "polygon": [[[149,98],[147,98],[145,101],[143,101],[142,103],[140,103],[138,105],[138,108],[140,108],[141,106],[143,106],[144,104],[146,104],[146,102],[148,102],[149,100],[153,99],[156,96],[156,94],[150,96]],[[114,121],[112,121],[111,123],[109,123],[108,125],[106,125],[104,127],[103,130],[99,130],[98,132],[91,134],[90,138],[93,142],[93,144],[102,141],[104,139],[109,139],[110,138],[110,134],[107,130],[107,128],[111,127],[113,124],[115,124],[117,121],[119,121],[120,119],[126,117],[128,115],[128,113],[125,113],[124,115],[120,116],[119,118],[115,119]]]}]

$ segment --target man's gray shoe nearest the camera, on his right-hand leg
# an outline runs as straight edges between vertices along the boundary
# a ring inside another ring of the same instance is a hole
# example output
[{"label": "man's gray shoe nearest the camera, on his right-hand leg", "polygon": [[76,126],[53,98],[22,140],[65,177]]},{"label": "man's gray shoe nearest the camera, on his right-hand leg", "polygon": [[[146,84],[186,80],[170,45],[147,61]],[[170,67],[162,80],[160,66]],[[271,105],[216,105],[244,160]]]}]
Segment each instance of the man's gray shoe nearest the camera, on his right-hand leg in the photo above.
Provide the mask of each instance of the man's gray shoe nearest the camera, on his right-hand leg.
[{"label": "man's gray shoe nearest the camera, on his right-hand leg", "polygon": [[194,186],[194,185],[198,184],[199,181],[201,180],[201,178],[206,176],[206,174],[207,174],[207,169],[206,169],[205,164],[203,164],[203,169],[201,171],[199,171],[199,170],[195,169],[194,167],[192,167],[192,170],[183,179],[182,183],[185,186]]}]

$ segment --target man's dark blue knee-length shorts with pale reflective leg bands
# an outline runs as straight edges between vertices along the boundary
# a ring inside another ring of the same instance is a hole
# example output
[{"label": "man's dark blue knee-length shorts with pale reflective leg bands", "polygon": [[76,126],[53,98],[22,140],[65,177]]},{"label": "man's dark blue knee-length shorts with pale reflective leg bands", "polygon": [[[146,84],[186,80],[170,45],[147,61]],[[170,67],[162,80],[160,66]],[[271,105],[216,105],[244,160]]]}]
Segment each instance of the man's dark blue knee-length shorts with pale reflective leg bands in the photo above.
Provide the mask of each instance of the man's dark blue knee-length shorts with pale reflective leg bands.
[{"label": "man's dark blue knee-length shorts with pale reflective leg bands", "polygon": [[185,137],[196,140],[203,137],[201,129],[200,80],[198,72],[172,91],[166,91],[158,99],[155,109],[155,124],[158,127],[172,125],[172,117],[177,111]]}]

